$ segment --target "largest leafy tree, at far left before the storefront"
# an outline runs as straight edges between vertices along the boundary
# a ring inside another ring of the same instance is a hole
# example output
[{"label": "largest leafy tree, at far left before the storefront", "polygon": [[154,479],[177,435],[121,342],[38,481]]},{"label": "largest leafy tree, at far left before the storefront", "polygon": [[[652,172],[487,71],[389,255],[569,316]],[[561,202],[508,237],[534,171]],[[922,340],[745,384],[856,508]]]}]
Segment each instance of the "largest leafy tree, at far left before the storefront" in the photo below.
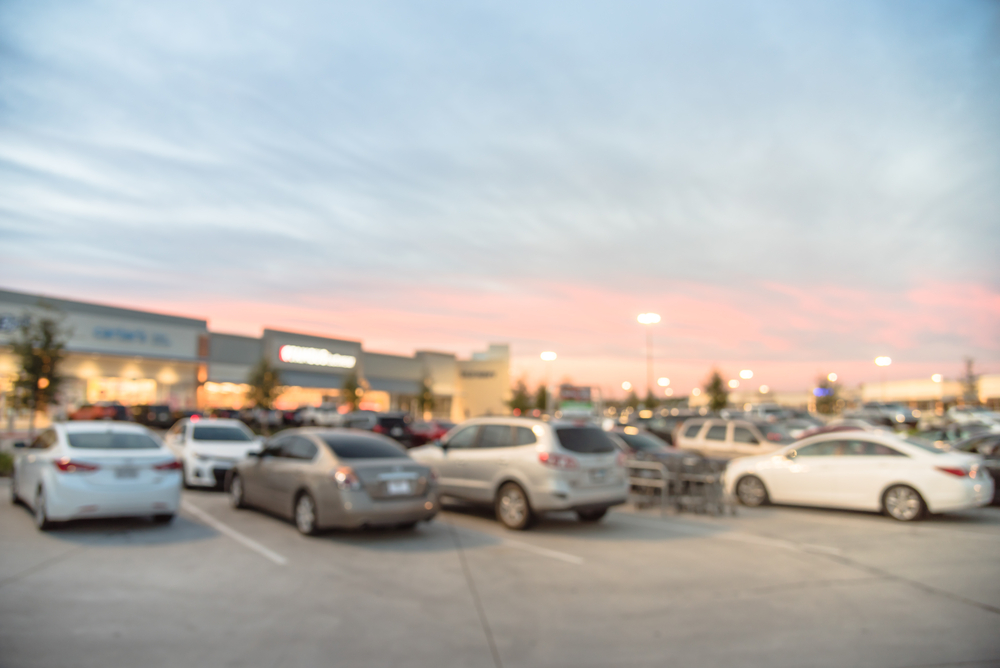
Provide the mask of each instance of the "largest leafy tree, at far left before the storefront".
[{"label": "largest leafy tree, at far left before the storefront", "polygon": [[21,319],[11,347],[20,370],[14,381],[14,405],[27,408],[28,437],[35,437],[35,413],[55,402],[62,384],[59,366],[66,356],[66,336],[54,317]]}]

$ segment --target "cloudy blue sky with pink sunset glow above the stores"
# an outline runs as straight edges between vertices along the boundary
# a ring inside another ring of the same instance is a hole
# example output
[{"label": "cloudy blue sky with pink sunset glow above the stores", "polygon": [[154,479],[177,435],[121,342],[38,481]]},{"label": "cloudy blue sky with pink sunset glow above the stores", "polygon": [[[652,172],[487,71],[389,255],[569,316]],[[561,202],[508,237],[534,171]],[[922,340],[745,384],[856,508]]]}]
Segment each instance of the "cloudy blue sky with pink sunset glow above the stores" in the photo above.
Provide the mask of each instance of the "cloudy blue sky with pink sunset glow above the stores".
[{"label": "cloudy blue sky with pink sunset glow above the stores", "polygon": [[0,3],[6,289],[792,391],[1000,372],[998,258],[995,2]]}]

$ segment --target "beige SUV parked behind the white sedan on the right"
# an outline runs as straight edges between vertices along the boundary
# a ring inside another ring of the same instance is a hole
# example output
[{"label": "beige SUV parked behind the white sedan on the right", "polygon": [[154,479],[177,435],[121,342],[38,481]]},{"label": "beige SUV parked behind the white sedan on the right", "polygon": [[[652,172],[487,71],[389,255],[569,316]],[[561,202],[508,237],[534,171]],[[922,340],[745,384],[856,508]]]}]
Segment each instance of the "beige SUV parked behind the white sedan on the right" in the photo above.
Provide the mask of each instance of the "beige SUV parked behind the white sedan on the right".
[{"label": "beige SUV parked behind the white sedan on the right", "polygon": [[677,430],[674,445],[706,456],[731,458],[770,452],[793,440],[777,422],[691,418]]}]

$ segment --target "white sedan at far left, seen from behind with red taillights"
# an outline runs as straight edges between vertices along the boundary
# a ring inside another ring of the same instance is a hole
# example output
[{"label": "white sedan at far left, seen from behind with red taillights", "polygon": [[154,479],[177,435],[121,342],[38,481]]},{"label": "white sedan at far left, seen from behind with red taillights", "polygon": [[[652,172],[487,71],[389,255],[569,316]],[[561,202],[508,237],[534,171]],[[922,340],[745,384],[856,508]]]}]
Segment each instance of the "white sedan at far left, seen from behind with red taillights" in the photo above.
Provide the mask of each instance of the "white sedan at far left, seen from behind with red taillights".
[{"label": "white sedan at far left, seen from behind with red taillights", "polygon": [[152,515],[169,522],[180,504],[181,463],[140,425],[70,422],[19,449],[11,500],[39,529],[91,517]]}]

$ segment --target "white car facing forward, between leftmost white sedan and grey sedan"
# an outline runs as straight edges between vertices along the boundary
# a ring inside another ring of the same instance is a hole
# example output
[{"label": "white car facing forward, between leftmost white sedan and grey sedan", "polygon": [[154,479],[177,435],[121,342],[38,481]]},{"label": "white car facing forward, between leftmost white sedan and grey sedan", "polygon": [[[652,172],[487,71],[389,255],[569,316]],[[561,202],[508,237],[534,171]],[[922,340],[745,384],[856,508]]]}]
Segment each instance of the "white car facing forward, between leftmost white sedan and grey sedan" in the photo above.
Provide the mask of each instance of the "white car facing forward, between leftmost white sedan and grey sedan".
[{"label": "white car facing forward, between leftmost white sedan and grey sedan", "polygon": [[239,420],[198,416],[180,420],[164,440],[184,465],[185,487],[221,488],[229,469],[261,447]]}]

